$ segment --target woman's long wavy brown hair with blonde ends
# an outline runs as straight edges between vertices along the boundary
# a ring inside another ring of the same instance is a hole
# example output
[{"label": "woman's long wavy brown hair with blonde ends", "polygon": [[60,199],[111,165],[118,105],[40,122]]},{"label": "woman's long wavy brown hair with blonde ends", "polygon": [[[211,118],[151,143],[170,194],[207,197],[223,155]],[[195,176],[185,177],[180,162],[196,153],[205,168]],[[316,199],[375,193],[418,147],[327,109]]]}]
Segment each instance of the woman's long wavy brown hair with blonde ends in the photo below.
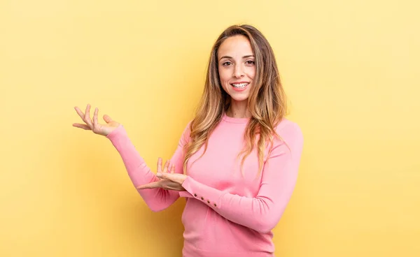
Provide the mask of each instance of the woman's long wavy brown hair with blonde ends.
[{"label": "woman's long wavy brown hair with blonde ends", "polygon": [[[287,101],[286,94],[281,86],[279,70],[272,47],[265,36],[251,25],[228,27],[217,38],[211,49],[204,92],[195,118],[190,123],[190,141],[185,146],[186,156],[183,161],[184,173],[186,173],[188,160],[193,154],[203,145],[205,147],[201,156],[207,151],[211,132],[221,122],[224,112],[230,106],[230,96],[222,88],[219,78],[218,49],[227,38],[237,35],[245,36],[251,43],[256,68],[253,86],[248,97],[248,110],[252,117],[246,125],[244,149],[238,154],[238,157],[243,156],[241,170],[246,157],[251,154],[256,142],[259,162],[258,175],[260,175],[266,147],[273,145],[274,137],[280,138],[275,131],[275,127],[286,115]],[[272,149],[272,147],[269,147],[269,149]]]}]

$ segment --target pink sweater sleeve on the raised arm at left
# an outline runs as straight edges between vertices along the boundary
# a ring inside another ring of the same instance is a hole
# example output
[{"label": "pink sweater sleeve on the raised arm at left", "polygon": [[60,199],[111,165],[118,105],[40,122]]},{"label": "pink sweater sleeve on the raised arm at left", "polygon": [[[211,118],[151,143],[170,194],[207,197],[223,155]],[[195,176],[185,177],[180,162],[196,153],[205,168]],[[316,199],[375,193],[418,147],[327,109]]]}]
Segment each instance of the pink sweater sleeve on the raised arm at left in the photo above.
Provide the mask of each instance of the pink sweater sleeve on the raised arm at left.
[{"label": "pink sweater sleeve on the raised arm at left", "polygon": [[[175,163],[176,173],[183,173],[183,147],[190,138],[189,126],[190,124],[188,124],[186,129],[183,131],[178,147],[170,160],[170,163]],[[116,147],[118,153],[123,159],[125,168],[134,187],[159,181],[159,178],[156,177],[155,173],[151,171],[151,169],[146,165],[144,159],[140,156],[139,152],[137,152],[137,149],[132,144],[123,125],[118,126],[118,128],[109,133],[106,138],[111,140],[112,144]],[[148,205],[153,212],[165,210],[179,198],[179,191],[165,190],[161,188],[137,189],[137,191],[141,198],[145,201],[146,205]]]}]

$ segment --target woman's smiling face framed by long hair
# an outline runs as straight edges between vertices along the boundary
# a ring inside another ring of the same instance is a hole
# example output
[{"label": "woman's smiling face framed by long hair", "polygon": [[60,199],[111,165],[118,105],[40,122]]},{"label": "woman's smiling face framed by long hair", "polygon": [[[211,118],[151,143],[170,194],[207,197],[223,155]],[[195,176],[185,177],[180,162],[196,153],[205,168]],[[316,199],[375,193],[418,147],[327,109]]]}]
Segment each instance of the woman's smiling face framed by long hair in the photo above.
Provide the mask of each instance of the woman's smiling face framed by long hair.
[{"label": "woman's smiling face framed by long hair", "polygon": [[237,35],[225,39],[218,49],[221,85],[232,101],[245,101],[253,87],[255,57],[248,38]]}]

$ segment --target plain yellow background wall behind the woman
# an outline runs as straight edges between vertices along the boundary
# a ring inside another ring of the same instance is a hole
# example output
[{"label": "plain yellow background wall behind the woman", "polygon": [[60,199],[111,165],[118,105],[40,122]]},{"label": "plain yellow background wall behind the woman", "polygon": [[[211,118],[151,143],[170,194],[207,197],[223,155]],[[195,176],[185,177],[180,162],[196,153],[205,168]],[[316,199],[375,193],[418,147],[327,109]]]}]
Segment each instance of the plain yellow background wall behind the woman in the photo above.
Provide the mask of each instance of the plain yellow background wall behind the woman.
[{"label": "plain yellow background wall behind the woman", "polygon": [[276,255],[420,256],[417,1],[1,1],[0,256],[181,256],[184,200],[153,213],[75,105],[155,170],[231,24],[274,48],[304,152]]}]

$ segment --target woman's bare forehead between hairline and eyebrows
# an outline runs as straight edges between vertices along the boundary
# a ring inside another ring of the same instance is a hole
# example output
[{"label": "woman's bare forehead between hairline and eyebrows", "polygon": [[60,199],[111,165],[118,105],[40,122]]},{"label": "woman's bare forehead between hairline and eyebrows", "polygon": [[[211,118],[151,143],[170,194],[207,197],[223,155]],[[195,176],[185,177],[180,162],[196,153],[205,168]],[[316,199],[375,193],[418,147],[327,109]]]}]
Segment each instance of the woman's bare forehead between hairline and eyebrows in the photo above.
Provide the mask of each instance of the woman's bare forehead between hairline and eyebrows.
[{"label": "woman's bare forehead between hairline and eyebrows", "polygon": [[242,35],[226,38],[218,49],[219,57],[224,55],[229,55],[232,57],[239,55],[242,57],[244,55],[251,54],[253,54],[251,43],[249,43],[248,38]]}]

